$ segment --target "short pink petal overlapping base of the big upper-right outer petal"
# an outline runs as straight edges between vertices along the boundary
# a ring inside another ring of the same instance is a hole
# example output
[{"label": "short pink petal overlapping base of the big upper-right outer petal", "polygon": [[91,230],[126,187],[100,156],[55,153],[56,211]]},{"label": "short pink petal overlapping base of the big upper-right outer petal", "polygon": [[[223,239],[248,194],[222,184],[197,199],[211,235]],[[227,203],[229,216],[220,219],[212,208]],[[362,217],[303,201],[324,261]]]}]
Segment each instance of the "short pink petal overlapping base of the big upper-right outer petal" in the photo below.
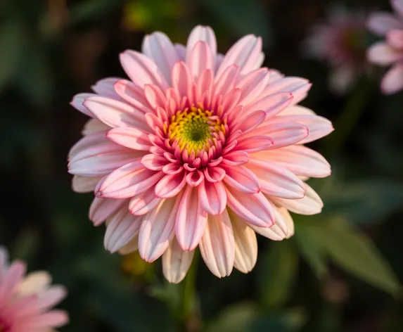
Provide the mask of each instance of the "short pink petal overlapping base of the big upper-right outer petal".
[{"label": "short pink petal overlapping base of the big upper-right outer petal", "polygon": [[255,101],[269,82],[269,76],[267,68],[260,68],[245,75],[235,86],[242,91],[239,103],[246,106]]}]

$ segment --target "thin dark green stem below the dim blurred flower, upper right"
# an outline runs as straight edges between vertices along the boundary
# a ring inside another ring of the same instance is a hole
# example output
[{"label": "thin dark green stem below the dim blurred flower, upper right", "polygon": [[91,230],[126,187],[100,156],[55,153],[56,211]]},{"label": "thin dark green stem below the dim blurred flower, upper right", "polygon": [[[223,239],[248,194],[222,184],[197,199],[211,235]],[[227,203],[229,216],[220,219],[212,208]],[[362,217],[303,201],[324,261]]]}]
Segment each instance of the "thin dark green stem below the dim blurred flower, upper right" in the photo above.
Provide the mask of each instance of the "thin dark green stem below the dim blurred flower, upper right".
[{"label": "thin dark green stem below the dim blurred flower, upper right", "polygon": [[333,123],[335,132],[329,136],[327,148],[324,149],[326,157],[333,158],[340,153],[340,149],[343,148],[364,112],[365,106],[369,101],[368,96],[372,89],[373,84],[366,78],[362,79],[354,89],[345,109]]}]

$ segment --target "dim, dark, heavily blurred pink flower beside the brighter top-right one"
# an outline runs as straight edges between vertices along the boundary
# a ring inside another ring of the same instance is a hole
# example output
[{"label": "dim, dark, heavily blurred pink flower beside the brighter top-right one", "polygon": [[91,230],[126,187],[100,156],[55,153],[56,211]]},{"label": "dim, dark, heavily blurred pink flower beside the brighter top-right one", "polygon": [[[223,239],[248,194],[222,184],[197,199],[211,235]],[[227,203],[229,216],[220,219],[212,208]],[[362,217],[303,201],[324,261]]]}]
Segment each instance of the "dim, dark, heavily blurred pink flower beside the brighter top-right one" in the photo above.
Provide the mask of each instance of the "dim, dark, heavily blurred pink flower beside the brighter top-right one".
[{"label": "dim, dark, heavily blurred pink flower beside the brighter top-right one", "polygon": [[336,94],[344,94],[365,70],[365,22],[364,11],[331,6],[326,23],[315,25],[303,45],[307,56],[328,63],[328,84]]}]

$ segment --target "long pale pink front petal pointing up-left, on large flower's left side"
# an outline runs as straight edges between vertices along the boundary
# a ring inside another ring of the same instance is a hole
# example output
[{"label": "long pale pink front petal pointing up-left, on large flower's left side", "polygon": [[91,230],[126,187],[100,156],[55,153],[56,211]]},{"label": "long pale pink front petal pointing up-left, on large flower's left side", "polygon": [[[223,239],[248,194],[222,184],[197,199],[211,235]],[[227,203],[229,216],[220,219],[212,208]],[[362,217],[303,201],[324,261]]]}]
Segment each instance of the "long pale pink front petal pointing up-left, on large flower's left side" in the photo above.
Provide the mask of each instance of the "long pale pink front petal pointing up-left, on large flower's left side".
[{"label": "long pale pink front petal pointing up-left, on large flower's left side", "polygon": [[122,101],[94,96],[87,98],[84,106],[91,110],[98,120],[110,127],[134,127],[148,130],[144,114]]}]

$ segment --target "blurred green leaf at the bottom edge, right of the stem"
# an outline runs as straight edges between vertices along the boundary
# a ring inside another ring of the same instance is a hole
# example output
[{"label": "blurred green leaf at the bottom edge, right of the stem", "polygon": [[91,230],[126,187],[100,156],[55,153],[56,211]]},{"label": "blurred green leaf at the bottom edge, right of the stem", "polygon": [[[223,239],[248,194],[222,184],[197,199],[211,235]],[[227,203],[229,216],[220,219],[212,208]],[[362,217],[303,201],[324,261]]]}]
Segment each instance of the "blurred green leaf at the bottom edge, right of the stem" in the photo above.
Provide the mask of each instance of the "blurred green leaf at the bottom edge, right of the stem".
[{"label": "blurred green leaf at the bottom edge, right of the stem", "polygon": [[256,305],[250,302],[238,303],[225,309],[218,319],[210,326],[206,332],[243,332],[250,331],[248,326],[257,318]]}]

